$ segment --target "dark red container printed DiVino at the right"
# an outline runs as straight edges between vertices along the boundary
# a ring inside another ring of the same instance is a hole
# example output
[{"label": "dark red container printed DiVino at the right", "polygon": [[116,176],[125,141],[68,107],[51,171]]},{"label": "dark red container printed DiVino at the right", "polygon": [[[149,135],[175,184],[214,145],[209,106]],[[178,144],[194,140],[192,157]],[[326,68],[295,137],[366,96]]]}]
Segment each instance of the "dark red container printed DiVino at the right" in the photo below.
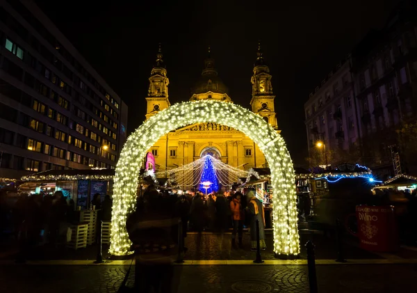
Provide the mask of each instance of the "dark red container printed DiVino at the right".
[{"label": "dark red container printed DiVino at the right", "polygon": [[393,206],[357,205],[357,237],[367,251],[398,250],[398,229]]}]

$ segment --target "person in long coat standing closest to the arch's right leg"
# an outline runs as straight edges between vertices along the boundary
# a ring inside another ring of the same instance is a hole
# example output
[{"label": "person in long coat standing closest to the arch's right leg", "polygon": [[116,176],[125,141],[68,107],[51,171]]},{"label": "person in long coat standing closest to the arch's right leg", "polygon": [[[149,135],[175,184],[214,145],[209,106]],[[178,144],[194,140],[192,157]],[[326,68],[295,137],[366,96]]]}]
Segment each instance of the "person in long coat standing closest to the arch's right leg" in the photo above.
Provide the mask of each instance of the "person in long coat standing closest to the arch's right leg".
[{"label": "person in long coat standing closest to the arch's right leg", "polygon": [[247,205],[248,214],[250,215],[250,250],[256,251],[256,221],[259,221],[259,242],[262,250],[266,249],[265,244],[265,214],[261,201],[256,198],[255,192],[250,190],[247,193],[249,203]]}]

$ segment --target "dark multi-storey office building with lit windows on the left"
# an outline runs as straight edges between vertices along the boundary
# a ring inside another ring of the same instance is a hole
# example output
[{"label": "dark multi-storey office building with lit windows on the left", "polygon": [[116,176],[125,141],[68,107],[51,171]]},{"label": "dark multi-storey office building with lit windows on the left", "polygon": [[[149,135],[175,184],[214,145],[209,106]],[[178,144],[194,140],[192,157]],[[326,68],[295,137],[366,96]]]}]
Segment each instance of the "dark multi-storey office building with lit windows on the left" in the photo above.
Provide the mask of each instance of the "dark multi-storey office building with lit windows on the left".
[{"label": "dark multi-storey office building with lit windows on the left", "polygon": [[127,106],[33,1],[0,0],[0,177],[115,168]]}]

